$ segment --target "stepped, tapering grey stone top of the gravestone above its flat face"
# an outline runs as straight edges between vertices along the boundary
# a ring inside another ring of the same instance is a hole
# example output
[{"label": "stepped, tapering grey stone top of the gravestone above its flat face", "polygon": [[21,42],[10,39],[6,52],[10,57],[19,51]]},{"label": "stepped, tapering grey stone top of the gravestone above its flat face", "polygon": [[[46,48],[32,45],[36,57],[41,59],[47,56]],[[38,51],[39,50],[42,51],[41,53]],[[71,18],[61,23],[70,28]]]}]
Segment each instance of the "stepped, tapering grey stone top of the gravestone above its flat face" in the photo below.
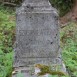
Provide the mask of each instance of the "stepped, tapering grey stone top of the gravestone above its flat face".
[{"label": "stepped, tapering grey stone top of the gravestone above its flat face", "polygon": [[53,13],[58,16],[57,10],[51,6],[49,0],[24,0],[16,13]]}]

